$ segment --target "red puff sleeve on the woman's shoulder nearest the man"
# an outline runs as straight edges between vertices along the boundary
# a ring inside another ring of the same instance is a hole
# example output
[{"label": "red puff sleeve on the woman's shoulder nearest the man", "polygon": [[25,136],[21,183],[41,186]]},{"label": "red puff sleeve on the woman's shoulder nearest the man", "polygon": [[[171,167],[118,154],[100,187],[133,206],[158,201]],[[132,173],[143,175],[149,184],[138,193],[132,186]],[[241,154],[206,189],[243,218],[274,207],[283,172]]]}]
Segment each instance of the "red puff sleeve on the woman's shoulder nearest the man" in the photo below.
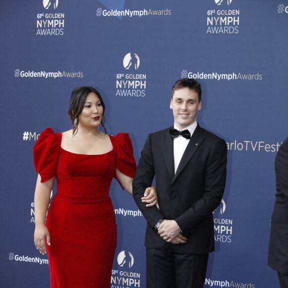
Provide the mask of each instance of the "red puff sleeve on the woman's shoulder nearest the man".
[{"label": "red puff sleeve on the woman's shoulder nearest the man", "polygon": [[[131,139],[128,133],[119,133],[115,136],[115,139],[117,152],[116,168],[121,173],[133,178],[136,171],[136,162],[133,156],[133,146]],[[116,176],[116,171],[114,177],[118,180]],[[121,185],[120,182],[119,184]]]}]

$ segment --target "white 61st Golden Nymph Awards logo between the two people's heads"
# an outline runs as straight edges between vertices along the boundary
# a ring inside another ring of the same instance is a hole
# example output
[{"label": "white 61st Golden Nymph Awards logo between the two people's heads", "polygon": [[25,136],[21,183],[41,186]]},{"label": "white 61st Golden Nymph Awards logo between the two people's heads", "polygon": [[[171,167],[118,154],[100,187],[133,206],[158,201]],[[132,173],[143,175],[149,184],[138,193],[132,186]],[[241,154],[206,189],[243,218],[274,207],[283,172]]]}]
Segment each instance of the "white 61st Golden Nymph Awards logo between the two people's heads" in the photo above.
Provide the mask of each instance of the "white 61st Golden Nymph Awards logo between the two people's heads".
[{"label": "white 61st Golden Nymph Awards logo between the two people's heads", "polygon": [[136,53],[128,53],[123,59],[125,71],[130,73],[118,73],[116,75],[116,96],[144,97],[146,89],[146,74],[134,74],[139,70],[140,58]]}]

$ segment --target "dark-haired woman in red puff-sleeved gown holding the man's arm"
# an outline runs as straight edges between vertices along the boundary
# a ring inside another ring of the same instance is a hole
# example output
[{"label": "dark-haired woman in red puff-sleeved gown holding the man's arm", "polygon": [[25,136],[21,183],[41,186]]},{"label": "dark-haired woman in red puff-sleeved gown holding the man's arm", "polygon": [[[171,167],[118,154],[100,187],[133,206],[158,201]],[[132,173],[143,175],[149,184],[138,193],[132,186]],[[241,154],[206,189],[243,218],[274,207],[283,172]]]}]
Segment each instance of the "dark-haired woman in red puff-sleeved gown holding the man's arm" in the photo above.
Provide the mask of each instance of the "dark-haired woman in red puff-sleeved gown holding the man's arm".
[{"label": "dark-haired woman in red puff-sleeved gown holding the man's arm", "polygon": [[[110,287],[117,244],[110,184],[115,177],[132,194],[136,163],[128,134],[106,134],[104,111],[97,90],[75,88],[68,112],[73,129],[54,134],[47,128],[33,148],[38,172],[34,242],[40,253],[48,254],[53,288]],[[45,225],[55,178],[57,193]],[[148,206],[156,204],[154,188],[144,196]]]}]

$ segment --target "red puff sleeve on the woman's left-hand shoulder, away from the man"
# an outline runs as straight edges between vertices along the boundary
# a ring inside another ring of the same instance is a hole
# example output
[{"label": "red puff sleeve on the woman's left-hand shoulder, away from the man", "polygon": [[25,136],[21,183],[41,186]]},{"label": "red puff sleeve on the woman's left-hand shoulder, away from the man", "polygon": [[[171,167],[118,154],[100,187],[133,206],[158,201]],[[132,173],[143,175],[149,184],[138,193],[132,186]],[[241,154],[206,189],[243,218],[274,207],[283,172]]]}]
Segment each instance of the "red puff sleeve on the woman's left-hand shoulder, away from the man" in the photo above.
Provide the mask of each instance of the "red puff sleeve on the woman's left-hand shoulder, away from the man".
[{"label": "red puff sleeve on the woman's left-hand shoulder, away from the man", "polygon": [[34,166],[41,176],[41,182],[53,178],[56,174],[61,145],[59,134],[54,134],[51,128],[47,128],[40,134],[33,147]]}]

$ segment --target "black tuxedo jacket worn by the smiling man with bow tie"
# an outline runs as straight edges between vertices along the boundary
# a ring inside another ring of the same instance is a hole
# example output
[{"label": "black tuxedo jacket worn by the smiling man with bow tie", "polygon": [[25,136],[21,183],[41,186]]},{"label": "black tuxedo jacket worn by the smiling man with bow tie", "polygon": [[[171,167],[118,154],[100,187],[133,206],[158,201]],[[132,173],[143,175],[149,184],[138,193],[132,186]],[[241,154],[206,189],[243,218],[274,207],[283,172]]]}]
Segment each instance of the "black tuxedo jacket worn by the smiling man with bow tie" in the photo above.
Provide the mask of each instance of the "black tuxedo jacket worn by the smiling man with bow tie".
[{"label": "black tuxedo jacket worn by the smiling man with bow tie", "polygon": [[[174,219],[188,238],[180,250],[208,253],[214,250],[213,211],[225,188],[227,146],[223,139],[199,124],[174,172],[173,139],[169,128],[148,135],[133,180],[133,197],[147,220],[145,246],[162,248],[154,225],[160,218]],[[141,202],[155,176],[160,210]]]}]

